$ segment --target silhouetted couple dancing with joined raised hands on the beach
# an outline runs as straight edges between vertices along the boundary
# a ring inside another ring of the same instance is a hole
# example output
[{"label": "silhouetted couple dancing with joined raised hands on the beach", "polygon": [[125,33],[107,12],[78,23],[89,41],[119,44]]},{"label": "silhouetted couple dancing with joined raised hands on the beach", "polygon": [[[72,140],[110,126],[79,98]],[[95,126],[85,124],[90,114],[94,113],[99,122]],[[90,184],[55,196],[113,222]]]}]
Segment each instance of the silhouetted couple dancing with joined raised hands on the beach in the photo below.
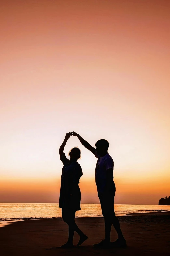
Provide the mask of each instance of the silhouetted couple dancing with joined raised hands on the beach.
[{"label": "silhouetted couple dancing with joined raised hands on the beach", "polygon": [[[70,136],[76,136],[80,140],[81,144],[90,150],[98,159],[95,168],[95,181],[97,186],[98,197],[101,204],[102,214],[105,221],[105,238],[100,243],[95,244],[97,248],[109,248],[109,247],[125,247],[126,240],[122,234],[119,220],[114,212],[114,196],[115,196],[115,183],[113,181],[113,166],[114,162],[111,156],[108,154],[108,141],[101,139],[92,147],[87,141],[85,141],[76,132],[69,132],[66,134],[63,143],[60,146],[59,154],[60,160],[63,163],[62,176],[61,176],[61,188],[59,207],[62,208],[63,221],[68,224],[68,241],[62,245],[61,248],[72,248],[74,232],[77,232],[80,236],[80,240],[77,246],[81,245],[88,237],[78,228],[75,223],[75,213],[81,210],[81,191],[79,188],[79,181],[83,175],[80,164],[77,162],[81,158],[81,151],[78,147],[74,147],[70,150],[70,160],[66,158],[64,147]],[[110,241],[111,226],[114,226],[118,239],[115,242]]]}]

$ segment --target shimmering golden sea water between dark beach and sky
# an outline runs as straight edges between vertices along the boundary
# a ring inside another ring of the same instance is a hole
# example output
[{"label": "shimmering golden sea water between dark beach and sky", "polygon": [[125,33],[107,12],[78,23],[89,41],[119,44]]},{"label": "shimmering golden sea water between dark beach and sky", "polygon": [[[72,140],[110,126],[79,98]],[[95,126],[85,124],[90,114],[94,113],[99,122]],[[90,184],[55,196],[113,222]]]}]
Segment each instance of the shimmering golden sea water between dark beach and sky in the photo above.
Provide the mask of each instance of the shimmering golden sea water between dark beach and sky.
[{"label": "shimmering golden sea water between dark beach and sky", "polygon": [[[116,204],[115,213],[123,216],[129,213],[146,213],[170,211],[167,205],[130,205]],[[81,211],[76,212],[77,217],[102,216],[100,204],[81,204]],[[0,203],[0,221],[15,221],[40,218],[61,217],[58,204],[29,204],[29,203]]]}]

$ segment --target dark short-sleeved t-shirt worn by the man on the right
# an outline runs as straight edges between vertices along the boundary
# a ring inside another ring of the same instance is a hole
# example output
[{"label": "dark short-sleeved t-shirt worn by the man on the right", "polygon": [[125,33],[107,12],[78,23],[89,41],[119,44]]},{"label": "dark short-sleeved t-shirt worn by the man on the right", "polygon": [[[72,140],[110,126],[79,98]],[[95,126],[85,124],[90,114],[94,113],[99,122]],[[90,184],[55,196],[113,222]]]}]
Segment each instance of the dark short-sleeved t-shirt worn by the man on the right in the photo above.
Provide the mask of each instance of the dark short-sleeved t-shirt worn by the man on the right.
[{"label": "dark short-sleeved t-shirt worn by the man on the right", "polygon": [[[108,169],[113,169],[114,162],[111,156],[107,153],[105,156],[100,157],[100,155],[95,152],[95,157],[98,158],[96,169],[95,169],[95,180],[98,192],[104,192],[106,189],[106,172]],[[112,177],[113,180],[113,177]],[[115,190],[115,184],[113,182],[113,190]]]}]

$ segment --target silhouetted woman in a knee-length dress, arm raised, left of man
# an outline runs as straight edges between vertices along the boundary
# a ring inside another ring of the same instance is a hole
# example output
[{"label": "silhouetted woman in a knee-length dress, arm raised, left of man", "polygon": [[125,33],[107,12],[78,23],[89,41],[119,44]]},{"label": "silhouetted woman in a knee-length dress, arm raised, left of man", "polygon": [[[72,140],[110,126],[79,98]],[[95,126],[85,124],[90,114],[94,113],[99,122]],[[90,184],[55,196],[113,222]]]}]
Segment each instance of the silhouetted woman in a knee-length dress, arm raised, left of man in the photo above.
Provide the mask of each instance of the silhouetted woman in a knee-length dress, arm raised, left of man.
[{"label": "silhouetted woman in a knee-length dress, arm raised, left of man", "polygon": [[67,133],[65,139],[60,146],[60,160],[63,163],[59,207],[62,208],[62,218],[68,224],[68,241],[61,248],[72,248],[74,231],[80,236],[77,246],[81,245],[88,237],[78,228],[75,223],[75,213],[80,208],[81,192],[79,188],[79,180],[83,175],[80,164],[77,160],[81,157],[79,148],[74,147],[70,150],[70,160],[66,158],[63,152],[67,140],[71,133]]}]

